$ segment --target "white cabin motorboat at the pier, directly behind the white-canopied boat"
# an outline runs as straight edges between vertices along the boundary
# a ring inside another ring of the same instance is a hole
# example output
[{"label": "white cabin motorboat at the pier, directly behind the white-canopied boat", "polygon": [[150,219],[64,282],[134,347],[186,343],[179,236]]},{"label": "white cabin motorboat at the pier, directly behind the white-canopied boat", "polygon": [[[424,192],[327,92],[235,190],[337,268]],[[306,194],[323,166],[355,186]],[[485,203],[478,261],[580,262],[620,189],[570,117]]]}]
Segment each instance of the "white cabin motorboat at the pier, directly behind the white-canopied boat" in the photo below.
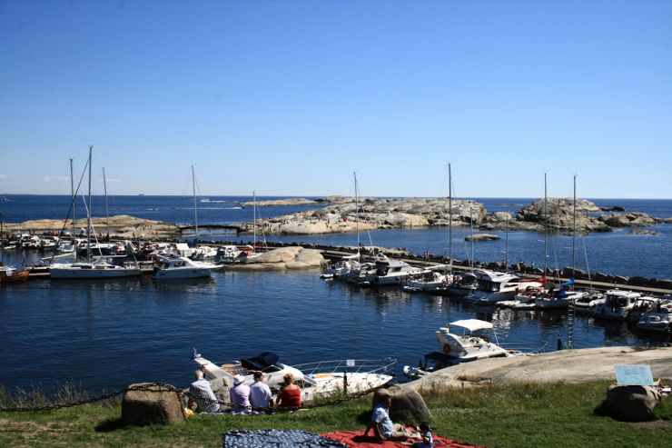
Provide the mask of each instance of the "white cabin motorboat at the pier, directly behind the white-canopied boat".
[{"label": "white cabin motorboat at the pier, directly behind the white-canopied boat", "polygon": [[539,292],[542,283],[534,280],[521,280],[518,275],[499,273],[496,271],[479,270],[478,285],[473,294],[465,297],[465,301],[474,304],[497,304],[503,300],[511,300],[518,294]]}]

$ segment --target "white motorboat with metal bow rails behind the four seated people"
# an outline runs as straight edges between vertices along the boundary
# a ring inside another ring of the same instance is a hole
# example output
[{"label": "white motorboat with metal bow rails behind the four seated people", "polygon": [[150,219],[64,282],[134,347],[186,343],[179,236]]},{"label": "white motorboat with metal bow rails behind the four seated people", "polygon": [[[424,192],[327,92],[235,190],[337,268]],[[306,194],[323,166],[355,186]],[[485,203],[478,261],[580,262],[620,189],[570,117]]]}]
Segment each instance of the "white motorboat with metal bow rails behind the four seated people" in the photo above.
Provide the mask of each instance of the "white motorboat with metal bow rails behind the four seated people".
[{"label": "white motorboat with metal bow rails behind the four seated people", "polygon": [[392,381],[390,374],[394,359],[347,360],[303,363],[294,366],[280,363],[278,355],[264,352],[252,358],[232,363],[212,363],[193,351],[193,362],[203,370],[203,377],[211,382],[232,384],[234,375],[242,375],[245,384],[254,383],[254,372],[263,372],[272,393],[282,386],[283,376],[292,373],[294,382],[301,388],[301,401],[310,402],[318,397],[337,393],[365,393]]}]

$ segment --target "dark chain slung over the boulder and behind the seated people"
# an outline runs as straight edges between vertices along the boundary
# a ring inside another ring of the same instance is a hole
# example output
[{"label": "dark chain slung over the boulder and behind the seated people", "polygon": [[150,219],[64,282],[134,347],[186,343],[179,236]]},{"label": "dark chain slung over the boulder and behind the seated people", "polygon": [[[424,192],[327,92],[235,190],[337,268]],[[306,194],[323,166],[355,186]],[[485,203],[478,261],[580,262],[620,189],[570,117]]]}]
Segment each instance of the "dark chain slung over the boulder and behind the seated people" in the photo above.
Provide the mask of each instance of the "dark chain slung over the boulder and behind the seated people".
[{"label": "dark chain slung over the boulder and behind the seated people", "polygon": [[[351,400],[355,400],[358,398],[361,398],[362,396],[368,395],[369,393],[375,392],[379,389],[384,388],[385,385],[380,385],[377,387],[371,387],[371,389],[367,389],[366,391],[361,391],[357,393],[348,393],[347,395],[342,395],[338,398],[331,398],[331,399],[325,399],[325,401],[321,401],[321,403],[305,403],[304,405],[301,406],[301,409],[314,409],[314,408],[320,408],[320,407],[326,407],[326,406],[332,406],[336,404],[341,404],[345,402],[349,402]],[[158,388],[158,389],[157,389]],[[164,383],[143,383],[143,384],[135,384],[131,386],[126,386],[122,389],[117,389],[116,391],[110,392],[110,393],[104,393],[102,395],[98,395],[93,398],[86,398],[83,400],[77,400],[74,402],[69,402],[69,403],[53,403],[53,404],[43,404],[40,406],[17,406],[17,407],[0,407],[0,413],[35,413],[39,411],[54,411],[57,409],[64,409],[64,408],[71,408],[75,406],[81,406],[84,404],[91,404],[91,403],[97,403],[97,402],[103,402],[105,400],[109,400],[114,397],[118,397],[120,395],[123,395],[124,393],[128,393],[131,391],[146,391],[146,392],[152,392],[152,393],[164,393],[164,392],[174,392],[178,393],[181,397],[186,397],[187,399],[193,398],[193,399],[199,399],[202,402],[205,403],[216,403],[219,404],[220,407],[222,408],[232,408],[232,403],[224,403],[220,402],[218,400],[211,400],[209,398],[203,398],[200,395],[196,395],[194,393],[191,393],[189,391],[184,391],[182,389],[179,389],[171,384],[164,384]],[[235,406],[236,409],[243,409],[241,406]],[[252,407],[248,406],[247,409],[251,411],[257,411],[260,413],[265,413],[269,411],[273,412],[294,412],[299,408],[295,407],[287,407],[287,408],[260,408],[260,407]]]}]

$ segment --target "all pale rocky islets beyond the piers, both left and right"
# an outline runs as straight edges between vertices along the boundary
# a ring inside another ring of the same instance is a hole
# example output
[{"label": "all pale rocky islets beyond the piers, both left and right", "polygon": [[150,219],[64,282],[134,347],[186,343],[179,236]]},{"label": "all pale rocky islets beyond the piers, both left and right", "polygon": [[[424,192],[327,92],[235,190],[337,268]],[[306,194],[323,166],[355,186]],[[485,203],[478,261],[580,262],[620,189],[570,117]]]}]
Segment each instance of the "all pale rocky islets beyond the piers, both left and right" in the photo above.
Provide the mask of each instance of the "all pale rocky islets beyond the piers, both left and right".
[{"label": "all pale rocky islets beyond the piers, both left and right", "polygon": [[[251,205],[243,203],[242,205]],[[446,198],[402,198],[379,199],[360,198],[359,208],[355,198],[350,196],[328,196],[324,199],[303,198],[278,199],[256,203],[268,205],[313,205],[327,204],[319,209],[306,210],[295,214],[285,214],[256,223],[237,226],[239,234],[339,234],[375,229],[427,228],[471,226],[481,234],[487,231],[509,229],[511,231],[570,234],[576,220],[578,234],[612,232],[630,228],[631,234],[655,235],[656,232],[644,228],[656,224],[672,224],[672,218],[656,218],[640,212],[626,212],[622,207],[599,208],[585,199],[577,200],[577,213],[570,198],[548,198],[544,213],[544,200],[527,204],[514,214],[507,212],[488,213],[484,204],[474,200],[452,200],[452,222]],[[96,233],[106,229],[105,218],[92,218]],[[256,229],[254,226],[256,225]],[[75,226],[82,229],[86,220],[79,219]],[[21,224],[5,224],[8,231],[70,230],[72,223],[64,227],[63,220],[33,220]],[[173,238],[180,234],[176,224],[163,223],[129,215],[110,217],[110,228],[114,236],[120,238]],[[474,235],[474,240],[491,239],[494,236]]]}]

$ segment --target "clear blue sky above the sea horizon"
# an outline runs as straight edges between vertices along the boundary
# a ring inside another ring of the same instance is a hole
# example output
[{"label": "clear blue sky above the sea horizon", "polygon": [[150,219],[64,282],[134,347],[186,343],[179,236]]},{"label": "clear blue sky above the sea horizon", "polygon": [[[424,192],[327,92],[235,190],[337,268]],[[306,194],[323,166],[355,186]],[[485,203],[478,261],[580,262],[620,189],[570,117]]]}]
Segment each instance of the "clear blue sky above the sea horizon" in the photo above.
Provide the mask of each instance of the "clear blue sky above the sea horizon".
[{"label": "clear blue sky above the sea horizon", "polygon": [[0,1],[0,194],[672,198],[672,1]]}]

